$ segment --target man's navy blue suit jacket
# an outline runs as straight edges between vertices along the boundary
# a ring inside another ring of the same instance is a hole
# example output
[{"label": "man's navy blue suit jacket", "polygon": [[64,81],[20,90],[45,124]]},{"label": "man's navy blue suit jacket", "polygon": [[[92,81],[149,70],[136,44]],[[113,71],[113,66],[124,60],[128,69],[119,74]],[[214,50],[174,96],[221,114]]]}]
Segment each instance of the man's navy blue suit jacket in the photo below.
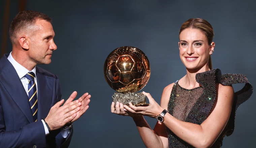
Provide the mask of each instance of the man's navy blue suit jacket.
[{"label": "man's navy blue suit jacket", "polygon": [[56,75],[36,67],[38,110],[33,122],[28,95],[5,54],[0,60],[0,147],[68,147],[72,132],[63,138],[60,130],[45,136],[41,122],[51,107],[61,100],[59,79]]}]

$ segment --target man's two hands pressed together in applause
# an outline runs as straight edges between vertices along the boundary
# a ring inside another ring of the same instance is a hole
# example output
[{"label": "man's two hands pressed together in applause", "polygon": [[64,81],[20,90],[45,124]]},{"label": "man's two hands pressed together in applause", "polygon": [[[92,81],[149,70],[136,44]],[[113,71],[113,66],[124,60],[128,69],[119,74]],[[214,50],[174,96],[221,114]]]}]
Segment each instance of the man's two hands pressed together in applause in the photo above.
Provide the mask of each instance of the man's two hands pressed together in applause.
[{"label": "man's two hands pressed together in applause", "polygon": [[91,95],[84,94],[78,100],[75,100],[77,93],[74,91],[68,100],[64,103],[64,100],[57,102],[50,110],[47,117],[44,119],[49,125],[51,130],[57,130],[64,126],[68,122],[73,122],[81,117],[89,108]]}]

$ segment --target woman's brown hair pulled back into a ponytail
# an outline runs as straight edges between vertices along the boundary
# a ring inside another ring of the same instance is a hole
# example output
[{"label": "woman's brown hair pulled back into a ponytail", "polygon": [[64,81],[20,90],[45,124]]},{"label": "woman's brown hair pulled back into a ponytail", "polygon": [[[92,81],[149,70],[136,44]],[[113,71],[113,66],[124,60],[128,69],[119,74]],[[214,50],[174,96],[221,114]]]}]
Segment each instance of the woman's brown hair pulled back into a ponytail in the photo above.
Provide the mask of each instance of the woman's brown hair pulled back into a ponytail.
[{"label": "woman's brown hair pulled back into a ponytail", "polygon": [[[180,34],[184,29],[193,28],[199,29],[207,38],[208,44],[211,45],[214,38],[214,32],[212,25],[202,18],[190,18],[188,21],[182,24]],[[209,56],[208,66],[213,69],[211,55]]]}]

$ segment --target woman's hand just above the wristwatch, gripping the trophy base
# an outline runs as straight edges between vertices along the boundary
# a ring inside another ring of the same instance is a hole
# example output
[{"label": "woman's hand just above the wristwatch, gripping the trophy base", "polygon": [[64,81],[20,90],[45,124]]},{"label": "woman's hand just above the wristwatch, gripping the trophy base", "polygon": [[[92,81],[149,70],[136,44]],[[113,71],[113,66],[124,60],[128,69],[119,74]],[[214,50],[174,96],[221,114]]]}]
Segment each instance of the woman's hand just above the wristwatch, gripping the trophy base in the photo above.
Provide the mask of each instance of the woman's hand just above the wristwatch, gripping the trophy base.
[{"label": "woman's hand just above the wristwatch, gripping the trophy base", "polygon": [[[152,118],[156,118],[157,115],[159,115],[164,109],[156,103],[156,101],[151,97],[149,93],[145,93],[144,91],[142,92],[143,95],[146,95],[147,98],[149,99],[149,106],[134,106],[132,103],[129,103],[130,107],[127,105],[123,105],[121,108],[124,108],[125,113],[127,111],[128,114],[137,114],[137,115],[144,115],[144,116],[149,116]],[[117,106],[116,106],[117,109]],[[121,109],[122,110],[122,109]]]}]

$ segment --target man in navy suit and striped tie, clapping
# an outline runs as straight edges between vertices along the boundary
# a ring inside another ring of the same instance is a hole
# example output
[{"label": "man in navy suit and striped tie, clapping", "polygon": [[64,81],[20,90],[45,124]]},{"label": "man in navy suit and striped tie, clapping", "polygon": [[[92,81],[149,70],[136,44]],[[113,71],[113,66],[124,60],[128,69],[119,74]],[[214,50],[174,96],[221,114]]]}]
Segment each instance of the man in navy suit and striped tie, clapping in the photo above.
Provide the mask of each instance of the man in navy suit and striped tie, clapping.
[{"label": "man in navy suit and striped tie, clapping", "polygon": [[0,147],[68,147],[72,122],[88,109],[91,96],[73,101],[74,91],[64,103],[58,77],[36,66],[50,64],[57,49],[51,18],[20,12],[9,34],[12,52],[0,60]]}]

